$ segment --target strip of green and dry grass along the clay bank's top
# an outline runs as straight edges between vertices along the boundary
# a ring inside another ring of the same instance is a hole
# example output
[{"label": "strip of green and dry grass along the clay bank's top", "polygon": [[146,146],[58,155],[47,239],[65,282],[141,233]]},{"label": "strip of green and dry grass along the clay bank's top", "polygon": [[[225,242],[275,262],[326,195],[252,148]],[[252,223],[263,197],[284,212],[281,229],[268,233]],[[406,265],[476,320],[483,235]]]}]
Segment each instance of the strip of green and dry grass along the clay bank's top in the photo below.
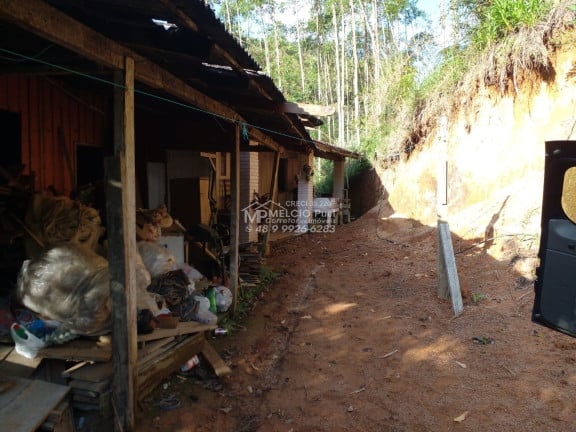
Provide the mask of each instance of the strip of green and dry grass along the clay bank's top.
[{"label": "strip of green and dry grass along the clay bank's top", "polygon": [[[406,149],[417,147],[440,118],[450,119],[463,104],[476,109],[472,99],[478,93],[518,94],[526,79],[548,81],[553,74],[550,50],[576,39],[573,1],[494,0],[468,13],[480,24],[469,32],[468,41],[443,50],[440,64],[415,86],[415,98],[381,97],[383,124],[393,129],[379,130],[378,153],[399,150],[408,155]],[[396,81],[388,86],[405,88],[405,80]],[[398,94],[384,90],[379,94]]]}]

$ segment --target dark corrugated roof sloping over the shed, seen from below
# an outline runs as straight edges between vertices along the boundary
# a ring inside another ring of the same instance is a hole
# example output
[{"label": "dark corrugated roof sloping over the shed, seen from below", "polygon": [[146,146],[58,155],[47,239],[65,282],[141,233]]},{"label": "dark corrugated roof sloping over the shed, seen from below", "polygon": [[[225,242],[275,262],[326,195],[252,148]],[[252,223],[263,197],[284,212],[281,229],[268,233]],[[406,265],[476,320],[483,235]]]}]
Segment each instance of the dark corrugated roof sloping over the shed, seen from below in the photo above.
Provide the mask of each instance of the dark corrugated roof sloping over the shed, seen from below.
[{"label": "dark corrugated roof sloping over the shed, seen from below", "polygon": [[[313,116],[284,112],[286,99],[282,92],[270,77],[259,72],[257,62],[202,0],[46,0],[44,3],[230,107],[248,126],[258,128],[280,145],[292,150],[315,150],[305,123],[321,122]],[[111,73],[72,50],[50,45],[7,22],[0,21],[0,40],[2,48],[26,57],[18,62],[0,57],[0,71],[5,73],[61,76],[67,70],[98,76]],[[50,68],[52,64],[63,68],[55,70]]]}]

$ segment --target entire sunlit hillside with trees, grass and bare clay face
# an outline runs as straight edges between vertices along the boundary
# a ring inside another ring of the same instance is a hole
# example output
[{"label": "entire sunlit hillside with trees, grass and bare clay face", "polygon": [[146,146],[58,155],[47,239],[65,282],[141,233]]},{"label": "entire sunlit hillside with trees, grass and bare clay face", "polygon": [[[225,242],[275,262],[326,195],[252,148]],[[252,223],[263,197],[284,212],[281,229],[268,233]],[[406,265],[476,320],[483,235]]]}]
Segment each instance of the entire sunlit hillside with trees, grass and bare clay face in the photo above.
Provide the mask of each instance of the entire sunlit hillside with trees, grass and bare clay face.
[{"label": "entire sunlit hillside with trees, grass and bare clay face", "polygon": [[335,107],[313,133],[363,153],[395,211],[536,235],[544,142],[576,121],[573,1],[440,1],[436,24],[415,0],[210,3],[288,99]]}]

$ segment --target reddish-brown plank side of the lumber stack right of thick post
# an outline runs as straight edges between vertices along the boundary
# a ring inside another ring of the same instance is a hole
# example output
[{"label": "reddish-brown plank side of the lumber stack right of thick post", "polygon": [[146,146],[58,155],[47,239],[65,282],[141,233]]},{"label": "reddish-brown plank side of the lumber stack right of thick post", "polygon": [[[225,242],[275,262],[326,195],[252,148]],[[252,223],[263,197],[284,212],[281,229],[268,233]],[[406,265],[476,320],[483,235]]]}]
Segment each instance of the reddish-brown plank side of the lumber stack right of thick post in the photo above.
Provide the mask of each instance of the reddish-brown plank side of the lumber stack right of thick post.
[{"label": "reddish-brown plank side of the lumber stack right of thick post", "polygon": [[200,353],[205,343],[203,333],[193,334],[186,337],[172,350],[162,353],[155,362],[139,368],[137,377],[139,400],[154,390],[162,380],[176,372],[188,359]]}]

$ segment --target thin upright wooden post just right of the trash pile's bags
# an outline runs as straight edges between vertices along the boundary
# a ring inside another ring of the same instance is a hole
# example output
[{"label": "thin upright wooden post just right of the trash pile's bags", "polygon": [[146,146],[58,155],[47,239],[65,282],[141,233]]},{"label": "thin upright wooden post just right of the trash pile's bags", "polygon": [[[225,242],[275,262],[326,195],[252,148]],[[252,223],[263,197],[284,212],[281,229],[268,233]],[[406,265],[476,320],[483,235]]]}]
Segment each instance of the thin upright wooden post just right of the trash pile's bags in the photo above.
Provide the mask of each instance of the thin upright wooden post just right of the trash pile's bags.
[{"label": "thin upright wooden post just right of the trash pile's bags", "polygon": [[240,124],[236,124],[236,139],[230,155],[230,291],[232,313],[236,312],[239,289],[240,241]]}]

